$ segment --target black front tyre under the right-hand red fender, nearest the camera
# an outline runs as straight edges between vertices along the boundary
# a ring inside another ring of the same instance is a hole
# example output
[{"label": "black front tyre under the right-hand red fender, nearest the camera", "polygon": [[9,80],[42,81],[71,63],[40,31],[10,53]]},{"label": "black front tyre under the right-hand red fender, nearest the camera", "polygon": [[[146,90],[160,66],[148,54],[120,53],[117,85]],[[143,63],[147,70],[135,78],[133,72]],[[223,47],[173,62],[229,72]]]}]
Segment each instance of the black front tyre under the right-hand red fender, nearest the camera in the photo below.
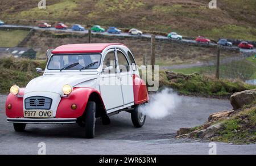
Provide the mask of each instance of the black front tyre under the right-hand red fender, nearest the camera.
[{"label": "black front tyre under the right-hand red fender, nearest the camera", "polygon": [[93,138],[95,130],[96,103],[89,101],[85,109],[85,138]]}]

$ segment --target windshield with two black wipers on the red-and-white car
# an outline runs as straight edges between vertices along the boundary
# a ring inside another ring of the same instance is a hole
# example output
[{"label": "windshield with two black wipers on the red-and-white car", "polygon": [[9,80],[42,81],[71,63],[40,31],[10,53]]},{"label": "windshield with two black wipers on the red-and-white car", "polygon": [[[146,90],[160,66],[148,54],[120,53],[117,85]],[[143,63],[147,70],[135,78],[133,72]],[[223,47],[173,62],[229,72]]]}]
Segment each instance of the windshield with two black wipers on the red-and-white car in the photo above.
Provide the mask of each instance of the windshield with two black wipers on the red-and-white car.
[{"label": "windshield with two black wipers on the red-and-white car", "polygon": [[55,54],[51,56],[51,59],[49,59],[47,69],[49,70],[97,69],[98,66],[100,66],[100,61],[101,61],[101,54],[71,54],[71,55]]}]

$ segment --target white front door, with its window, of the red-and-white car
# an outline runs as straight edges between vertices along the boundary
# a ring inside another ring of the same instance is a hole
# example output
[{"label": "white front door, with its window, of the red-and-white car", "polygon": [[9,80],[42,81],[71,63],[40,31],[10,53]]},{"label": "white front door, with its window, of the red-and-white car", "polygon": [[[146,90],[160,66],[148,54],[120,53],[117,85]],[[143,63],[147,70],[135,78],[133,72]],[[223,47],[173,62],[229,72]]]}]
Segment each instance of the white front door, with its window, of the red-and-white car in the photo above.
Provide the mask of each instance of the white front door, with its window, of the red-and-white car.
[{"label": "white front door, with its window, of the red-and-white car", "polygon": [[105,55],[99,86],[105,108],[110,113],[112,109],[123,107],[123,96],[114,49],[108,50]]}]

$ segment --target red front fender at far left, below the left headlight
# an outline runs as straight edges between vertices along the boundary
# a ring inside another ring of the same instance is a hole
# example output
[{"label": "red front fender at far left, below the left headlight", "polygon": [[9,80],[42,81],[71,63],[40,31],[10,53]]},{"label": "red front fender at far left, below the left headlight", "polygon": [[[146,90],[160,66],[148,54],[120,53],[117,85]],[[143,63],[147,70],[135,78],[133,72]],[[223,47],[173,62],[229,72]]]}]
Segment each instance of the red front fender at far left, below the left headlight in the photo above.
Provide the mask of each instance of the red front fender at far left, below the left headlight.
[{"label": "red front fender at far left, below the left headlight", "polygon": [[[20,88],[19,96],[23,96],[24,88]],[[11,104],[11,109],[7,106]],[[18,97],[9,93],[5,102],[6,116],[9,118],[20,118],[23,117],[23,97]]]}]

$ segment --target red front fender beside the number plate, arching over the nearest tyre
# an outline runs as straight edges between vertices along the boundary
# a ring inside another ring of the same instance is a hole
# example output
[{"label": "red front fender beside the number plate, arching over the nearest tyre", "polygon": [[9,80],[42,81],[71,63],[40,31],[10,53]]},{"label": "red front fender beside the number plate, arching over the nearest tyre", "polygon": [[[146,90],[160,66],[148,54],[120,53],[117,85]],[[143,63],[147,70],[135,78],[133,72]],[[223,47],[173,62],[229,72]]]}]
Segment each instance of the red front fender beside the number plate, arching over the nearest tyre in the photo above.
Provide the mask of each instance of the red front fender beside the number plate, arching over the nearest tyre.
[{"label": "red front fender beside the number plate, arching over the nearest tyre", "polygon": [[[61,97],[59,106],[56,112],[56,118],[78,118],[82,116],[92,93],[97,93],[101,99],[100,93],[93,88],[74,88],[72,93],[67,97]],[[101,103],[105,109],[104,103]],[[72,109],[71,105],[76,104],[77,108]]]}]

